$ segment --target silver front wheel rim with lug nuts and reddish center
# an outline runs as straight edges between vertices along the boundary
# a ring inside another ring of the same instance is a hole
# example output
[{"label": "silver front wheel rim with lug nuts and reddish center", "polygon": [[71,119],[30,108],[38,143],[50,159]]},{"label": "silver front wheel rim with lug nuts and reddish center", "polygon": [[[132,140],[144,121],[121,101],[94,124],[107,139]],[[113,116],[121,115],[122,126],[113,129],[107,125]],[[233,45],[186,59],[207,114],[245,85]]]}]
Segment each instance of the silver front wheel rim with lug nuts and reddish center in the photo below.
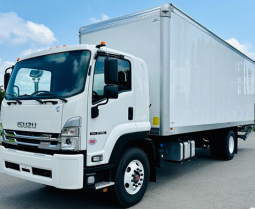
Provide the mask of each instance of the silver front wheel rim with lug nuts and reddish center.
[{"label": "silver front wheel rim with lug nuts and reddish center", "polygon": [[129,194],[136,194],[143,185],[144,168],[139,160],[130,162],[124,174],[124,187]]}]

